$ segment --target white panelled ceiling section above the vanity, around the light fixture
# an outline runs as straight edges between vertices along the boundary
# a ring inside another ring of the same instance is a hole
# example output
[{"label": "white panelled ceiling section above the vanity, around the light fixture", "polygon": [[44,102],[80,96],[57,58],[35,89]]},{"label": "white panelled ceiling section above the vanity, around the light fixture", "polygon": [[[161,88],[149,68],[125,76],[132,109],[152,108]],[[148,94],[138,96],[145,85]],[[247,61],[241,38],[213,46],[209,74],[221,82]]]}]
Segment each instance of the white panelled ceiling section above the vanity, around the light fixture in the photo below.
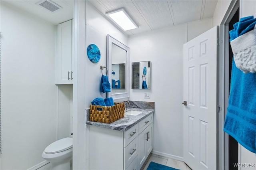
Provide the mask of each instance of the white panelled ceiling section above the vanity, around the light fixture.
[{"label": "white panelled ceiling section above the vanity, around the light fixture", "polygon": [[139,28],[130,36],[164,27],[212,18],[218,0],[89,0],[103,15],[124,8]]}]

